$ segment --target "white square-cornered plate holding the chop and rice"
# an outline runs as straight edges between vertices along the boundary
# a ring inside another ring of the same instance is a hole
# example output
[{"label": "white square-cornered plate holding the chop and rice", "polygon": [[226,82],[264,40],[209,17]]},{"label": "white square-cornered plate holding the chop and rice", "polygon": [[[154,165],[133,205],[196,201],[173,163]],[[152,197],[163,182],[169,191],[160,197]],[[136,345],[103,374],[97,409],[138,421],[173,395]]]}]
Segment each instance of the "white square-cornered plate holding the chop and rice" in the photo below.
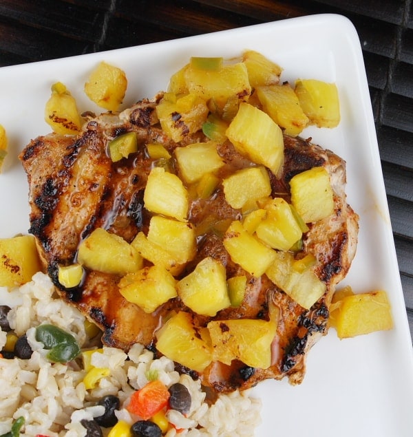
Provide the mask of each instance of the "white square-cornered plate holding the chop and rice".
[{"label": "white square-cornered plate holding the chop and rice", "polygon": [[[129,87],[124,107],[165,89],[189,56],[239,55],[253,49],[284,67],[282,79],[337,83],[337,129],[306,129],[303,136],[348,163],[348,201],[360,215],[357,255],[343,285],[356,292],[382,288],[392,303],[394,329],[339,341],[334,330],[308,356],[304,383],[266,381],[257,436],[412,436],[413,357],[403,292],[385,198],[377,138],[359,38],[347,19],[316,15],[187,39],[0,69],[0,123],[10,138],[0,175],[0,235],[28,230],[28,186],[19,151],[49,127],[43,120],[50,85],[62,81],[81,111],[98,111],[83,94],[89,72],[102,60],[122,67]],[[1,291],[1,290],[0,290]],[[3,290],[3,296],[4,296]]]}]

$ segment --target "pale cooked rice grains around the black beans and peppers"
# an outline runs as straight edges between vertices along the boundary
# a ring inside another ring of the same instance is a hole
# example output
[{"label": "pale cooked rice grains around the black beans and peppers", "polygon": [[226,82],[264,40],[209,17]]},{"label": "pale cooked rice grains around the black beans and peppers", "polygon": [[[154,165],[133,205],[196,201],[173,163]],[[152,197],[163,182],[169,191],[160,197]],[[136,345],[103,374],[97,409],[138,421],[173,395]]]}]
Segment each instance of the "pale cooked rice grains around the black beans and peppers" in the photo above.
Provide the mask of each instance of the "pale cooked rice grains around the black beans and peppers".
[{"label": "pale cooked rice grains around the black beans and peppers", "polygon": [[[118,420],[132,425],[138,417],[126,409],[129,398],[153,375],[167,387],[181,383],[191,394],[188,414],[167,410],[167,420],[173,426],[169,426],[165,436],[254,435],[260,423],[261,403],[249,390],[220,394],[215,404],[209,405],[200,381],[176,372],[173,361],[165,356],[153,359],[153,353],[140,344],[133,345],[128,353],[106,346],[90,352],[91,365],[103,369],[104,376],[86,390],[87,371],[81,360],[50,363],[46,357],[49,351],[36,341],[36,326],[50,323],[73,334],[81,348],[88,348],[85,317],[56,298],[50,278],[43,273],[36,273],[30,283],[20,287],[18,294],[20,302],[8,313],[8,321],[18,336],[27,335],[33,352],[30,359],[0,359],[0,435],[10,431],[12,423],[23,417],[21,436],[86,436],[81,420],[101,416],[105,407],[97,403],[108,394],[120,400]],[[6,332],[0,331],[1,350],[5,344]],[[102,431],[107,436],[110,429]]]}]

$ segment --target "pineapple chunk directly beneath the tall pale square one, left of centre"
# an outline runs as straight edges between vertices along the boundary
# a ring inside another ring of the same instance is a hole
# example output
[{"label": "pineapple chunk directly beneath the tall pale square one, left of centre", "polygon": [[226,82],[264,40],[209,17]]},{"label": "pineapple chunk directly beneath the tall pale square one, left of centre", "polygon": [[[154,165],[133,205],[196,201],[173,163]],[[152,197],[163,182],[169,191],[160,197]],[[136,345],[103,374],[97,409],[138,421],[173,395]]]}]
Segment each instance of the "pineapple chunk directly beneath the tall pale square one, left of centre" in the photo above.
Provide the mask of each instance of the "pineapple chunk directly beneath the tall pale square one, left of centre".
[{"label": "pineapple chunk directly beneath the tall pale square one, left of centre", "polygon": [[195,257],[196,236],[190,223],[154,215],[149,222],[147,238],[165,248],[176,264],[184,264]]}]

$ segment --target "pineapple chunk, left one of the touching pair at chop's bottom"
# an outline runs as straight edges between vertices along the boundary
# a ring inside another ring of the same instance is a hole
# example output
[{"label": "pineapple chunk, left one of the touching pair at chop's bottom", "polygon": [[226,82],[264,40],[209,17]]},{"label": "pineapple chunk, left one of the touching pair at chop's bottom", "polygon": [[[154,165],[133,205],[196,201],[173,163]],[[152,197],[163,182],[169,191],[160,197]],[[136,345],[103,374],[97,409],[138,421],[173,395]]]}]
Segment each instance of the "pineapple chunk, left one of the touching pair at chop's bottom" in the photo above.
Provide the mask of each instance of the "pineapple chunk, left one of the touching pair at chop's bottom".
[{"label": "pineapple chunk, left one of the touching pair at chop's bottom", "polygon": [[196,372],[202,372],[212,361],[209,345],[200,338],[188,312],[178,312],[156,332],[156,349],[167,358]]}]

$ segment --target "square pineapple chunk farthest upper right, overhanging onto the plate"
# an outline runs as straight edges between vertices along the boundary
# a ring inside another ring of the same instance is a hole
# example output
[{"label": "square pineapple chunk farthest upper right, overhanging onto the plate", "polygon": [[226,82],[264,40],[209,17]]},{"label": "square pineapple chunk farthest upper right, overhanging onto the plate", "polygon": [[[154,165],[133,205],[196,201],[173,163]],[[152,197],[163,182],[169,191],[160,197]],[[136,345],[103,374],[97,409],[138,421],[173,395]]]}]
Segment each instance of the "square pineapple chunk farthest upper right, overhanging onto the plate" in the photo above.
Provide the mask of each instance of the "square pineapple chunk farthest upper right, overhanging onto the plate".
[{"label": "square pineapple chunk farthest upper right, overhanging onto the plate", "polygon": [[316,79],[299,79],[295,82],[295,94],[312,125],[337,127],[340,122],[339,92],[335,83]]}]

